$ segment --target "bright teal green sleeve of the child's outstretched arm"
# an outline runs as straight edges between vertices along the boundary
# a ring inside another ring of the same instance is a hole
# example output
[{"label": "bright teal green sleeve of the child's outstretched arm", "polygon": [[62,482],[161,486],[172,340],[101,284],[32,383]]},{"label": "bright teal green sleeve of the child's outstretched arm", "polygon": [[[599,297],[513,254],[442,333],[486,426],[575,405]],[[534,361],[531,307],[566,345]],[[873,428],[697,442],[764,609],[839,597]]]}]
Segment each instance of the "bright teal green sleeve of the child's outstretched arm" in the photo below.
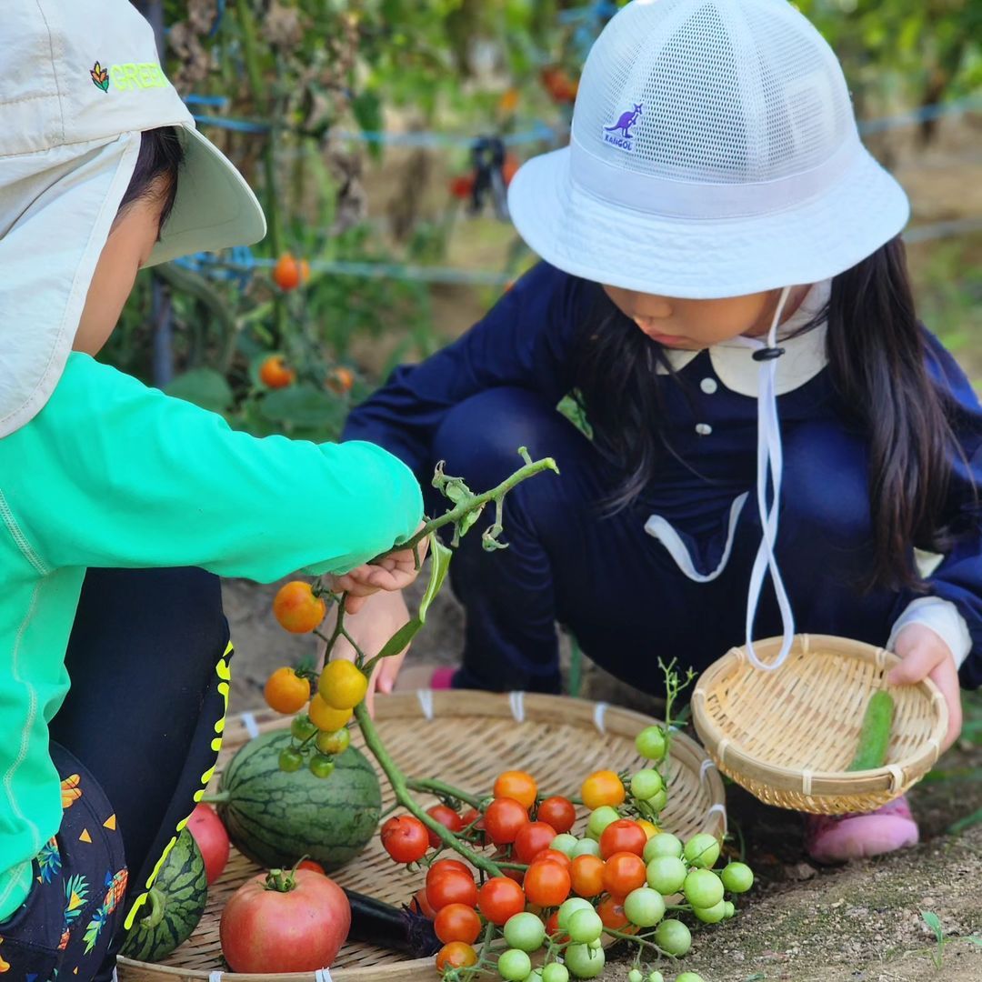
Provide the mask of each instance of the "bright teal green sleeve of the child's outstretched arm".
[{"label": "bright teal green sleeve of the child's outstretched arm", "polygon": [[344,573],[422,517],[409,468],[373,444],[257,439],[88,355],[3,444],[10,507],[52,568]]}]

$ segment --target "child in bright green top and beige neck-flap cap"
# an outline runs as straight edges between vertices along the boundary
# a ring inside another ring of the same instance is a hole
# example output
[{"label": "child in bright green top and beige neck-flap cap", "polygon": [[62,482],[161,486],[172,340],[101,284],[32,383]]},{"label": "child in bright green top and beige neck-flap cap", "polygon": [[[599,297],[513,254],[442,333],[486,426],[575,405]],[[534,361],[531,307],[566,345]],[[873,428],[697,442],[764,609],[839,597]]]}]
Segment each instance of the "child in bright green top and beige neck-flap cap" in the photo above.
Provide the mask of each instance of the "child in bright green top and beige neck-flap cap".
[{"label": "child in bright green top and beige neck-flap cap", "polygon": [[6,5],[0,77],[0,973],[84,982],[124,921],[142,944],[215,763],[215,574],[405,585],[408,551],[359,564],[422,500],[377,447],[256,440],[94,359],[140,266],[265,230],[131,4]]}]

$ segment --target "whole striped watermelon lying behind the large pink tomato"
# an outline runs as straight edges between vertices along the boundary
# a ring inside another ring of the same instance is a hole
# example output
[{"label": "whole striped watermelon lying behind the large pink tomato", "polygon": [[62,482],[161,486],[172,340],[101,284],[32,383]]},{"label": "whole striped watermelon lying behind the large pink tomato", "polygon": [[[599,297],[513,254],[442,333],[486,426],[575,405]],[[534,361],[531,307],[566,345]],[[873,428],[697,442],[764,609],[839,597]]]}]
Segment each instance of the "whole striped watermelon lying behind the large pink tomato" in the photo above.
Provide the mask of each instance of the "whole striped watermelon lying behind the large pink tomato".
[{"label": "whole striped watermelon lying behind the large pink tomato", "polygon": [[382,790],[355,747],[335,757],[334,773],[280,770],[287,731],[256,736],[232,758],[214,800],[229,838],[249,859],[292,867],[302,856],[327,872],[353,859],[378,828]]}]

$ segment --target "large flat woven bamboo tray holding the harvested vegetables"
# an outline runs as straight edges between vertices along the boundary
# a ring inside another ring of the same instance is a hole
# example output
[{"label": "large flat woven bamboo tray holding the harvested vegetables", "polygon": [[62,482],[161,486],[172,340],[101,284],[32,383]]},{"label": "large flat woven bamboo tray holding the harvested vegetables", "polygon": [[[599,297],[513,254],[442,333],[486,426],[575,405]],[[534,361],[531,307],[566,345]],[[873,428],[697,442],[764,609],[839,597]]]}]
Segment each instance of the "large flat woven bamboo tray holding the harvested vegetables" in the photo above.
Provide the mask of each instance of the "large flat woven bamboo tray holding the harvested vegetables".
[{"label": "large flat woven bamboo tray holding the harvested vegetables", "polygon": [[[630,770],[643,766],[634,748],[634,736],[653,722],[642,713],[605,703],[513,692],[494,694],[461,690],[396,693],[376,702],[375,723],[396,762],[413,777],[439,776],[475,792],[490,791],[501,771],[522,768],[535,775],[539,787],[574,794],[582,779],[601,768]],[[233,753],[251,736],[289,727],[290,719],[271,710],[246,713],[227,722],[219,755],[218,773]],[[363,741],[353,730],[353,743]],[[664,824],[682,837],[726,832],[723,781],[693,739],[676,733],[672,738],[672,791]],[[392,791],[382,779],[383,808]],[[578,796],[578,795],[577,795]],[[435,798],[420,795],[427,806]],[[578,809],[577,827],[586,811]],[[223,972],[218,924],[226,900],[259,867],[234,847],[229,865],[212,884],[208,905],[191,938],[161,964],[119,959],[121,982],[181,982],[210,979],[218,982],[307,980],[328,982],[314,973],[253,975]],[[418,873],[396,866],[378,837],[346,867],[332,874],[342,886],[400,905],[422,886]],[[390,982],[436,978],[432,958],[409,959],[363,944],[346,945],[331,968],[331,982]]]}]

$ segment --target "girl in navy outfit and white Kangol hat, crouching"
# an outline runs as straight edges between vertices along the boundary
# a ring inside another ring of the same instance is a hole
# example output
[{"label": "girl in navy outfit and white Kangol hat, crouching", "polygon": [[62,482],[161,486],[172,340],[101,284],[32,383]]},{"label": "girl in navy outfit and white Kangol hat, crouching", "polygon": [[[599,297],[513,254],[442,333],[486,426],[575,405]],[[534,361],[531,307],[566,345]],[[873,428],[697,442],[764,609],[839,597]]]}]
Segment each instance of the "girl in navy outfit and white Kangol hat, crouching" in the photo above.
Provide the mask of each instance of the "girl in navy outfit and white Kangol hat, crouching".
[{"label": "girl in navy outfit and white Kangol hat, crouching", "polygon": [[[557,621],[649,691],[658,656],[701,670],[781,634],[780,664],[796,628],[889,644],[895,681],[941,686],[951,743],[959,667],[982,681],[982,416],[917,321],[906,197],[818,31],[786,0],[634,0],[589,54],[570,145],[509,204],[542,262],[346,431],[420,478],[445,460],[490,487],[521,445],[560,465],[510,495],[508,550],[464,540],[450,683],[558,690]],[[556,411],[571,394],[585,426]],[[400,603],[369,601],[362,643]],[[807,844],[916,839],[900,799],[809,820]]]}]

